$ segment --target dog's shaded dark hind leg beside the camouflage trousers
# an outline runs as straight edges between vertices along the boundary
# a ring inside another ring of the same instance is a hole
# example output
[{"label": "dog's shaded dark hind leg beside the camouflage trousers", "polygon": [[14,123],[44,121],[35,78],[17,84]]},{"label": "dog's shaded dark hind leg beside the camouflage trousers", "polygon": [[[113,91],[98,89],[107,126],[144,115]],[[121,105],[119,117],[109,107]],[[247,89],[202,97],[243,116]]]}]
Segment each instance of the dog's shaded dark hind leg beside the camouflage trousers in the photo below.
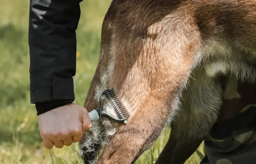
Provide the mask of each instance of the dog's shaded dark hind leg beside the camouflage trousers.
[{"label": "dog's shaded dark hind leg beside the camouflage trousers", "polygon": [[182,110],[156,164],[183,164],[218,119],[223,94],[219,81],[207,77],[204,70],[197,70],[188,84],[182,95]]}]

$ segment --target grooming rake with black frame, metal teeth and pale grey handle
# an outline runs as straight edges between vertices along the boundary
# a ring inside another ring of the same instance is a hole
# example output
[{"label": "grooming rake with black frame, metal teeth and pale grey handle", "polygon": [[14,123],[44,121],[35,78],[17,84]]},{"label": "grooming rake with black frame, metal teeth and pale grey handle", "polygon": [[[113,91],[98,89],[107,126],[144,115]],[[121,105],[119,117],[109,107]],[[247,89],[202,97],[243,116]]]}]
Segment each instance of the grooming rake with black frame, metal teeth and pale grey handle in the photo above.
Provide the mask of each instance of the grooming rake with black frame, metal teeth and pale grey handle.
[{"label": "grooming rake with black frame, metal teeth and pale grey handle", "polygon": [[[102,96],[106,96],[107,100],[112,104],[112,106],[114,107],[114,111],[118,116],[118,119],[108,115],[104,110],[102,110],[102,102],[101,102]],[[119,124],[122,124],[122,123],[126,124],[127,119],[130,116],[130,114],[124,107],[124,104],[122,103],[122,101],[120,101],[119,98],[117,97],[114,88],[112,89],[104,88],[104,91],[100,94],[99,108],[92,110],[88,114],[92,121],[98,120],[100,117],[106,117],[109,120]]]}]

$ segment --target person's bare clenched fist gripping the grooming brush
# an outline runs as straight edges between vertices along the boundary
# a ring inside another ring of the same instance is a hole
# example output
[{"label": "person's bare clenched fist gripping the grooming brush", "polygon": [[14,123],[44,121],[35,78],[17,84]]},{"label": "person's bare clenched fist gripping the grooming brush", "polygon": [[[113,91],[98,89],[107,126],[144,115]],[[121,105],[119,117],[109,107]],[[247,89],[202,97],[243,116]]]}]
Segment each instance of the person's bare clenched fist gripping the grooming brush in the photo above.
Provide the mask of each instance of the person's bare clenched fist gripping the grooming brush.
[{"label": "person's bare clenched fist gripping the grooming brush", "polygon": [[85,108],[72,103],[52,109],[38,116],[40,135],[44,146],[62,148],[78,142],[92,122]]}]

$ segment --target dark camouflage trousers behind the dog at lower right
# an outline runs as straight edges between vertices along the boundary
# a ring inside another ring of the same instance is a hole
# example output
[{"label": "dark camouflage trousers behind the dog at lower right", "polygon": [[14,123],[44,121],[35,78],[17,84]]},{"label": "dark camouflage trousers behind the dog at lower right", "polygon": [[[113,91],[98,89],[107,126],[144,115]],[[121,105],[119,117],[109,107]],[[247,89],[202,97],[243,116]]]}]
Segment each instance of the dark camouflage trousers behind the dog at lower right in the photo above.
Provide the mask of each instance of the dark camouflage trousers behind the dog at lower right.
[{"label": "dark camouflage trousers behind the dog at lower right", "polygon": [[204,140],[207,155],[200,164],[256,164],[256,85],[232,76],[221,85],[221,113]]}]

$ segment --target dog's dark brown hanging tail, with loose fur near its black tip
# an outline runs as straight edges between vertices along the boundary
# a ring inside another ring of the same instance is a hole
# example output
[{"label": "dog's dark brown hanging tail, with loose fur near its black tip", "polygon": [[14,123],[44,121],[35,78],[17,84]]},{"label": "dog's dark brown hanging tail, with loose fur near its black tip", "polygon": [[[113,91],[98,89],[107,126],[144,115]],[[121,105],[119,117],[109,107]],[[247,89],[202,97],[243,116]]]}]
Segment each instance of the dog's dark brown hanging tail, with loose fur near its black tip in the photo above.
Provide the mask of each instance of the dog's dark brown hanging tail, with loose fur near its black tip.
[{"label": "dog's dark brown hanging tail, with loose fur near its black tip", "polygon": [[[110,38],[113,34],[113,29],[110,27],[115,18],[116,8],[112,2],[108,8],[108,11],[105,15],[105,18],[102,23],[101,30],[101,49],[100,49],[100,58],[95,70],[94,76],[92,78],[91,86],[87,97],[84,102],[84,108],[88,112],[91,112],[93,109],[99,108],[98,100],[95,99],[97,86],[101,85],[101,77],[104,76],[108,63],[109,63],[109,51],[110,51]],[[96,124],[96,125],[95,125]],[[79,141],[80,153],[83,157],[84,163],[92,163],[96,159],[99,149],[102,146],[102,140],[104,139],[104,128],[100,120],[97,120],[92,123],[92,126],[101,127],[98,130],[92,128],[92,132],[84,133],[83,137]],[[88,144],[88,143],[90,144]]]}]

